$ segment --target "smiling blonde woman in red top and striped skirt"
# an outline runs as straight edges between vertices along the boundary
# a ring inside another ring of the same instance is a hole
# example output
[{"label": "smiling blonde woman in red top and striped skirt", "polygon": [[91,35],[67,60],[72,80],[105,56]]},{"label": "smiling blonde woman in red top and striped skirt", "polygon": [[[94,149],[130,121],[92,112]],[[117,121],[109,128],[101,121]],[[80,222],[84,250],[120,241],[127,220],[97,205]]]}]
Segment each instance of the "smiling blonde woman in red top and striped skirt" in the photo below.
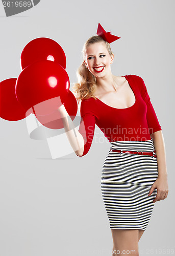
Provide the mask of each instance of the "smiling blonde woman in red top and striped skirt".
[{"label": "smiling blonde woman in red top and striped skirt", "polygon": [[101,184],[113,238],[112,255],[115,250],[139,255],[138,241],[154,203],[168,194],[165,145],[143,79],[112,74],[114,54],[104,38],[103,34],[92,36],[83,48],[84,62],[78,70],[79,82],[74,85],[81,100],[79,131],[72,129],[64,105],[59,111],[77,156],[88,153],[95,123],[109,139],[111,148]]}]

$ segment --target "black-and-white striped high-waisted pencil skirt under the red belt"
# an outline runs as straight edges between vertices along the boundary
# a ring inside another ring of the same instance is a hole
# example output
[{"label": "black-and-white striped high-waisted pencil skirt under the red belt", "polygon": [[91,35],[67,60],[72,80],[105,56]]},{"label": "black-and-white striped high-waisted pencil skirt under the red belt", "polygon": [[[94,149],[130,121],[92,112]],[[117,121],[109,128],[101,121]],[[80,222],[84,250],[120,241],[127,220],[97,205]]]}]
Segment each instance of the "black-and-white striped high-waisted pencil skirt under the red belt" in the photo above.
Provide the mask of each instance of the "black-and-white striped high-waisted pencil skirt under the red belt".
[{"label": "black-and-white striped high-waisted pencil skirt under the red belt", "polygon": [[[116,150],[153,152],[153,139],[111,142]],[[112,229],[146,230],[157,189],[149,190],[158,177],[157,158],[109,151],[105,159],[101,191]]]}]

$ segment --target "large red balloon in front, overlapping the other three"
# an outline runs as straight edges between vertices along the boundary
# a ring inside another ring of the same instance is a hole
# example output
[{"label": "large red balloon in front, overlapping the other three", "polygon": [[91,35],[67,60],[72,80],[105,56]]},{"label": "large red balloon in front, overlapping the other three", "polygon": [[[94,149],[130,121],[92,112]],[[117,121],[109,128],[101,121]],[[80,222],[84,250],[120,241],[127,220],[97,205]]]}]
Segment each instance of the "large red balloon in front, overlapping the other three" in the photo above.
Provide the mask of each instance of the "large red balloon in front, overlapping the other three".
[{"label": "large red balloon in front, overlapping the other three", "polygon": [[70,87],[65,69],[50,60],[34,62],[16,81],[16,97],[24,109],[46,115],[63,104]]}]

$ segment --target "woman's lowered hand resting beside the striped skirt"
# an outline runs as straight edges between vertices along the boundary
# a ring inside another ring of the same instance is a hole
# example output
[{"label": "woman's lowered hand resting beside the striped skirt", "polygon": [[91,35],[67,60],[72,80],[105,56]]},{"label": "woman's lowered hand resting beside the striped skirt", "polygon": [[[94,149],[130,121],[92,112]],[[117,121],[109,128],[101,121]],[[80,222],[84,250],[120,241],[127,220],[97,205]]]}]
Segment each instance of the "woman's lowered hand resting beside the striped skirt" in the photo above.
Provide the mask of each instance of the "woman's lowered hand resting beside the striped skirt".
[{"label": "woman's lowered hand resting beside the striped skirt", "polygon": [[168,180],[167,175],[158,176],[157,180],[153,183],[151,189],[149,190],[148,196],[153,193],[153,190],[157,188],[156,198],[153,200],[153,203],[164,200],[168,195]]}]

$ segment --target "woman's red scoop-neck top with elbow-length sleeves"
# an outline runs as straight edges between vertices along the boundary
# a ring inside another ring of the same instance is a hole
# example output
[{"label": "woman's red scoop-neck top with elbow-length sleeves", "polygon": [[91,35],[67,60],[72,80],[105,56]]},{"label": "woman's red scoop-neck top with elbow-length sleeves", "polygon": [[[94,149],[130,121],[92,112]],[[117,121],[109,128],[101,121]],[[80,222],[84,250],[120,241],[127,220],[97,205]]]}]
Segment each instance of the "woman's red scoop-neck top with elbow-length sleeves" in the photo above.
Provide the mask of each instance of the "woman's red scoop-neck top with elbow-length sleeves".
[{"label": "woman's red scoop-neck top with elbow-length sleeves", "polygon": [[143,79],[137,75],[124,77],[135,95],[135,103],[129,108],[113,108],[94,98],[81,101],[82,122],[79,132],[85,143],[82,156],[86,155],[90,149],[95,124],[109,142],[150,140],[150,134],[162,130]]}]

